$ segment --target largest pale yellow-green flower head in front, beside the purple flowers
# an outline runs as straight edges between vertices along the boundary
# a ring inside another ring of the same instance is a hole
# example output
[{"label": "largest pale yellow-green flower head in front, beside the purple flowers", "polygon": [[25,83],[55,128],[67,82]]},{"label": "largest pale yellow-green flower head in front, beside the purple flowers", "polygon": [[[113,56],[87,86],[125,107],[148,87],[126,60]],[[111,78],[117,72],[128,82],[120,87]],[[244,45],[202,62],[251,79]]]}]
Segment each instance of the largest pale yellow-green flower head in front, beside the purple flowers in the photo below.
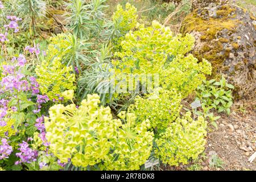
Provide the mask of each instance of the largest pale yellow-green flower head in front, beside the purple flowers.
[{"label": "largest pale yellow-green flower head in front, beside the purple flowers", "polygon": [[88,95],[79,109],[75,104],[54,105],[45,118],[50,150],[61,160],[75,166],[93,166],[105,159],[113,148],[115,123],[109,107],[98,107],[100,97]]}]

